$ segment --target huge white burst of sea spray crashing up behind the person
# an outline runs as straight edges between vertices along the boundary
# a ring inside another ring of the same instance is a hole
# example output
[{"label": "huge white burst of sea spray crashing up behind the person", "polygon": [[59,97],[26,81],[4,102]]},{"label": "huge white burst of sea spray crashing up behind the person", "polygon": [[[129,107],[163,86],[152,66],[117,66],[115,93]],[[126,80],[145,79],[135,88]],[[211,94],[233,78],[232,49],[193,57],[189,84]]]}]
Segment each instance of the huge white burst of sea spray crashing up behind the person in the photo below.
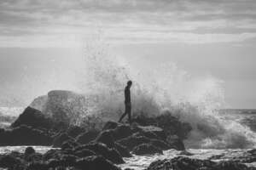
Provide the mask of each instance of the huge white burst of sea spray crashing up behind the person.
[{"label": "huge white burst of sea spray crashing up behind the person", "polygon": [[[195,148],[249,148],[256,135],[239,122],[225,120],[218,113],[224,106],[222,81],[215,77],[192,77],[177,65],[155,65],[145,77],[139,69],[131,70],[117,57],[109,54],[106,44],[97,43],[85,50],[87,92],[97,100],[92,103],[94,114],[117,121],[124,111],[123,89],[131,79],[133,115],[157,116],[169,111],[193,130],[186,144]],[[89,86],[88,86],[89,85]]]}]

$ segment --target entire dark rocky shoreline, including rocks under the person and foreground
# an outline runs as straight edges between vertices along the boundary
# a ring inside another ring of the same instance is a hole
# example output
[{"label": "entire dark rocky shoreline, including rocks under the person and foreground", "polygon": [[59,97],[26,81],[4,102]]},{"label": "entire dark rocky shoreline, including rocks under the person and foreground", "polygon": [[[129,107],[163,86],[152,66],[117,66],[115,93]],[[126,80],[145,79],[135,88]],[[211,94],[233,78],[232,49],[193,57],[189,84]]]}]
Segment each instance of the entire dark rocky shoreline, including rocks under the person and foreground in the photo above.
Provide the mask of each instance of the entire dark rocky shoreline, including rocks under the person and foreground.
[{"label": "entire dark rocky shoreline, including rocks under the person and foreground", "polygon": [[[183,150],[190,130],[189,123],[180,122],[171,114],[155,117],[137,116],[131,126],[106,122],[102,129],[73,126],[57,122],[32,107],[8,129],[0,129],[0,145],[44,145],[52,149],[44,154],[27,147],[24,153],[0,156],[0,167],[14,170],[115,170],[125,157],[162,154],[163,150]],[[214,159],[214,158],[212,158]],[[241,161],[240,161],[241,160]],[[214,162],[178,156],[152,162],[147,170],[253,170],[245,162],[256,160],[256,151],[231,161]],[[127,169],[128,170],[128,169]]]}]

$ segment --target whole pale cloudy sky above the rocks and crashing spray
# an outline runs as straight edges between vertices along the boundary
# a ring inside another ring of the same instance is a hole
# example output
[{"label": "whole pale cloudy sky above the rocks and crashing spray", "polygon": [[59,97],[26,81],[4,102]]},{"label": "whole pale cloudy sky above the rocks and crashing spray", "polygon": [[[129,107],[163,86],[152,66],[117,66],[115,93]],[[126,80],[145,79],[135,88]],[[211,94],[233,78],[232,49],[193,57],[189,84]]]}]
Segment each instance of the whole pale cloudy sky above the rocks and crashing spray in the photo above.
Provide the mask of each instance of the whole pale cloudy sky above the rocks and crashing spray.
[{"label": "whole pale cloudy sky above the rocks and crashing spray", "polygon": [[[0,101],[12,96],[20,105],[19,96],[55,88],[50,72],[69,67],[100,35],[138,69],[174,62],[222,80],[229,107],[256,108],[255,21],[255,0],[1,0]],[[28,92],[24,75],[40,75],[32,87],[48,85]]]}]

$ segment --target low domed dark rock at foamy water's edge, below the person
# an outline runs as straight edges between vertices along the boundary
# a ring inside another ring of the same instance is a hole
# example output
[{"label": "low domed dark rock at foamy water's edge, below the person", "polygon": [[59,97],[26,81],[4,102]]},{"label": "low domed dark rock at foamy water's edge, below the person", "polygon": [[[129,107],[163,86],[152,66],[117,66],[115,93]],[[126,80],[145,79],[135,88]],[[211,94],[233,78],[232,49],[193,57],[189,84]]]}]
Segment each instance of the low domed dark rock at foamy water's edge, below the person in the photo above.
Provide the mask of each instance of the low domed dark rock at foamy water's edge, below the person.
[{"label": "low domed dark rock at foamy water's edge, below the person", "polygon": [[163,151],[155,147],[153,144],[139,144],[132,150],[132,153],[137,156],[143,156],[154,155],[156,153],[163,154]]}]

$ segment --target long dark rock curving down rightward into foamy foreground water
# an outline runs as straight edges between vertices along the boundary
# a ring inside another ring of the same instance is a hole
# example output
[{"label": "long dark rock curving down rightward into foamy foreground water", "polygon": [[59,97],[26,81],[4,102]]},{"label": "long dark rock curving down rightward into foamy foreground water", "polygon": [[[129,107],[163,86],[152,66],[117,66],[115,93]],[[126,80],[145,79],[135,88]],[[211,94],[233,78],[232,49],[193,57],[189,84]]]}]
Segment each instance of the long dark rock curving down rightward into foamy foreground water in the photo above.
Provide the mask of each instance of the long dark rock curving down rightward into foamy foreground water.
[{"label": "long dark rock curving down rightward into foamy foreground water", "polygon": [[92,150],[96,153],[96,155],[101,155],[105,159],[108,159],[109,161],[112,161],[116,164],[121,164],[125,162],[117,150],[108,148],[106,144],[96,143],[80,145],[75,149],[75,152],[84,149]]}]

